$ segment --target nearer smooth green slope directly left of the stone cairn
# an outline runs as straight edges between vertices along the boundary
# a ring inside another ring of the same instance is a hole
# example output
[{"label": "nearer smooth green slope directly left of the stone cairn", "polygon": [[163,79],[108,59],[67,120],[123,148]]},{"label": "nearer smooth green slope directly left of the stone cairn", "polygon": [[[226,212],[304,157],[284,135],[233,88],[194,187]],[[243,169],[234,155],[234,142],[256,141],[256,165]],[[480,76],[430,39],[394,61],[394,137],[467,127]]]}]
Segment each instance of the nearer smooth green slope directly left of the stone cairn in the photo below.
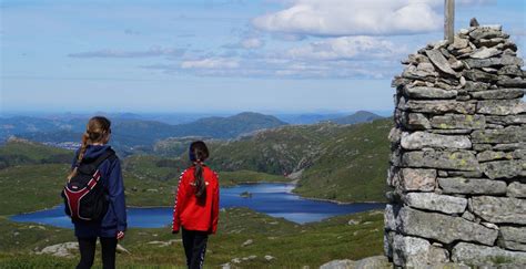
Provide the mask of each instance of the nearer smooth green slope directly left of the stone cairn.
[{"label": "nearer smooth green slope directly left of the stone cairn", "polygon": [[391,118],[352,125],[323,143],[323,153],[294,193],[341,201],[384,200],[391,127]]}]

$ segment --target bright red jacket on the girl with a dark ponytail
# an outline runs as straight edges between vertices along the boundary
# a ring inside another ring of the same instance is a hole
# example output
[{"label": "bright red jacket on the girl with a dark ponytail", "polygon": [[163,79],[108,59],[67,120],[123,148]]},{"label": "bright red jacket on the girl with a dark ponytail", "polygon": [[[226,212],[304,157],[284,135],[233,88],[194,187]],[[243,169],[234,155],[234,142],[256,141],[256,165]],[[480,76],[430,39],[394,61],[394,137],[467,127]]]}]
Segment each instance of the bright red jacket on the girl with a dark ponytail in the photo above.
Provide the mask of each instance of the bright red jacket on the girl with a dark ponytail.
[{"label": "bright red jacket on the girl with a dark ponytail", "polygon": [[203,178],[206,184],[206,198],[203,203],[195,197],[195,187],[191,185],[194,182],[194,170],[195,166],[191,166],[179,177],[175,205],[173,206],[172,231],[179,231],[182,226],[186,230],[215,234],[220,195],[218,174],[203,165]]}]

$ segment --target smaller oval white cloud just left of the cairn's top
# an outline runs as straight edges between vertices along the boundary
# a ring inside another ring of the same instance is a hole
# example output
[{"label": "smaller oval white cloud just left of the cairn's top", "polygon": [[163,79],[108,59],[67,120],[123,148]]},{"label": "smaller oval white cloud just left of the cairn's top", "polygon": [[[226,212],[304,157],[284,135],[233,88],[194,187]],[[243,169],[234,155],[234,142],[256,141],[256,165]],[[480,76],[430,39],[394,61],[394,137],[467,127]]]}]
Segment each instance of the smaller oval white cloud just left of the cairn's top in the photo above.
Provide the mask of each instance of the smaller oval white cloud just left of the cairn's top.
[{"label": "smaller oval white cloud just left of the cairn's top", "polygon": [[350,60],[395,59],[407,53],[393,42],[373,37],[342,37],[312,42],[287,51],[293,59]]}]

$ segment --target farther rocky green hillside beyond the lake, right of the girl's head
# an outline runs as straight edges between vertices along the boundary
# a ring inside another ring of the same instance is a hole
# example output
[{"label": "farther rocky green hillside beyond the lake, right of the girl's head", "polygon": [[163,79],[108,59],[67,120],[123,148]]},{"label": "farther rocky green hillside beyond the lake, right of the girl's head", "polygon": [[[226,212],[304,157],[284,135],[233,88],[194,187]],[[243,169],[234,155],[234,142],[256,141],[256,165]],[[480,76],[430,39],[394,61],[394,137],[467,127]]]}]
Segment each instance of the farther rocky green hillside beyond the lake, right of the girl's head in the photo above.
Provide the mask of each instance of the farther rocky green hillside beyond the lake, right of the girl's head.
[{"label": "farther rocky green hillside beyond the lake, right of the girl's head", "polygon": [[323,142],[344,128],[323,123],[262,131],[253,136],[211,146],[210,163],[220,170],[290,174],[311,166],[322,152]]}]

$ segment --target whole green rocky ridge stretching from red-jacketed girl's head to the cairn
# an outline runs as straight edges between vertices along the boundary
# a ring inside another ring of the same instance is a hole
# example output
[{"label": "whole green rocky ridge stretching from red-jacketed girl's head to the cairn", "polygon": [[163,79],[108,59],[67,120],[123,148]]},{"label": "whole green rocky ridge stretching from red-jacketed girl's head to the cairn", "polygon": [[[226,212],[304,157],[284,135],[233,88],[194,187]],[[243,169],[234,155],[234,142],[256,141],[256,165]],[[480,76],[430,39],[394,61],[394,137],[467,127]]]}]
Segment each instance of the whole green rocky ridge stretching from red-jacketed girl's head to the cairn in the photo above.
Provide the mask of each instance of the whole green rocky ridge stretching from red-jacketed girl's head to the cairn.
[{"label": "whole green rocky ridge stretching from red-jacketed girl's head to the cairn", "polygon": [[274,175],[303,170],[295,193],[340,201],[384,200],[392,118],[372,123],[293,125],[212,148],[220,170]]}]

